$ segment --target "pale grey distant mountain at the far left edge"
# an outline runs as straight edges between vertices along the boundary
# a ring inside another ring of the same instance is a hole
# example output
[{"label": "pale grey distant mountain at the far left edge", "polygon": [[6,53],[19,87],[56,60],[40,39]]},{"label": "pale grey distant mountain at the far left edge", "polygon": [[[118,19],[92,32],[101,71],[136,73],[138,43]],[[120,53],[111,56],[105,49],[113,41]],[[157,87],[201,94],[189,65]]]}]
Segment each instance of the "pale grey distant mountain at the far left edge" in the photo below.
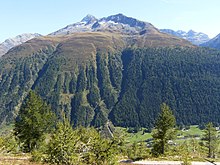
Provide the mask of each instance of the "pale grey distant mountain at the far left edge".
[{"label": "pale grey distant mountain at the far left edge", "polygon": [[4,55],[5,53],[7,53],[7,51],[17,45],[20,45],[32,38],[35,38],[35,37],[39,37],[41,36],[40,34],[37,34],[37,33],[24,33],[24,34],[21,34],[21,35],[18,35],[14,38],[9,38],[7,40],[5,40],[4,42],[2,42],[0,44],[0,57],[2,55]]}]

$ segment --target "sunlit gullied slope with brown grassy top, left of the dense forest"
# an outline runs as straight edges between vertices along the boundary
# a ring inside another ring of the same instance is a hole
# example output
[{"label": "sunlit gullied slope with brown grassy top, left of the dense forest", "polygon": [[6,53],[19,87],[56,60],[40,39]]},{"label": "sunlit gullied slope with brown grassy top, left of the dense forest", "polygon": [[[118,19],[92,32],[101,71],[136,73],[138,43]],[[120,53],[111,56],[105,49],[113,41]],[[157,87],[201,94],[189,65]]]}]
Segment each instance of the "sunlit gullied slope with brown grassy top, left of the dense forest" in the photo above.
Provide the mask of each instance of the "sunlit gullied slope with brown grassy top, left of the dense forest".
[{"label": "sunlit gullied slope with brown grassy top, left of the dense forest", "polygon": [[[98,114],[91,113],[106,120],[121,88],[122,73],[117,73],[123,68],[121,51],[130,46],[156,47],[158,44],[193,47],[185,40],[167,35],[131,36],[108,32],[38,37],[14,47],[0,60],[1,122],[12,120],[30,89],[47,98],[54,109],[61,106],[71,114],[73,107],[77,110],[82,107],[86,113],[87,108],[94,109],[99,103],[100,110],[95,110]],[[112,63],[111,70],[107,63]],[[82,115],[81,111],[77,114]],[[79,121],[87,122],[86,125],[97,123],[92,117],[89,121],[77,118],[72,119],[76,124],[83,124]]]}]

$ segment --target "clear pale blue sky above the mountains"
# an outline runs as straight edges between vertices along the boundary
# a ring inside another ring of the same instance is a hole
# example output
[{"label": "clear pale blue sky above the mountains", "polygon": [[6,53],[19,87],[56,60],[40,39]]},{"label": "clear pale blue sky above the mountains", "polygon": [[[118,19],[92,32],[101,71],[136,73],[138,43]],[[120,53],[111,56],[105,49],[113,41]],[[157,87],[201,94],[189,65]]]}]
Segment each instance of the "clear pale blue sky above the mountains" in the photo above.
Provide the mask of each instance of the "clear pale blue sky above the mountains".
[{"label": "clear pale blue sky above the mountains", "polygon": [[157,28],[220,33],[220,0],[2,0],[0,42],[22,33],[46,35],[87,14],[113,14],[150,22]]}]

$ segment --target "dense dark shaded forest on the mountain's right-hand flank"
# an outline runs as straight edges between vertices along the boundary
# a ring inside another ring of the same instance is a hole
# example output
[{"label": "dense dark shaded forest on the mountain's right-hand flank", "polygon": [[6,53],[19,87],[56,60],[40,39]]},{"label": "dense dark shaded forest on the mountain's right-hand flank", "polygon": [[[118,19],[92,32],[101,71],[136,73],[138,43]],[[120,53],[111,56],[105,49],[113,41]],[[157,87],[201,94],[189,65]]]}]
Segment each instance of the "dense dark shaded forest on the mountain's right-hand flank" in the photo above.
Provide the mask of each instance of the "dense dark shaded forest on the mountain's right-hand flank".
[{"label": "dense dark shaded forest on the mountain's right-hand flank", "polygon": [[110,118],[124,127],[152,127],[165,102],[177,123],[219,123],[219,60],[220,52],[202,48],[123,51],[121,93]]}]

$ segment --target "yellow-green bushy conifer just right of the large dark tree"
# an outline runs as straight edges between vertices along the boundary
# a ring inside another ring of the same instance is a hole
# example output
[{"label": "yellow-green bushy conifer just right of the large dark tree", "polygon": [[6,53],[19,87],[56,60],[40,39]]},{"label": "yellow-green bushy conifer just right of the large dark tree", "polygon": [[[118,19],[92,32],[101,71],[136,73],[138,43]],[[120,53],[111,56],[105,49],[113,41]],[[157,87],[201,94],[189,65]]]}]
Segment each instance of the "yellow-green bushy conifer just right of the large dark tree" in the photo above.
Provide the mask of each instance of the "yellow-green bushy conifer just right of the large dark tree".
[{"label": "yellow-green bushy conifer just right of the large dark tree", "polygon": [[59,122],[47,146],[47,162],[51,164],[80,164],[81,156],[77,152],[80,135],[73,131],[69,120],[64,117]]}]

